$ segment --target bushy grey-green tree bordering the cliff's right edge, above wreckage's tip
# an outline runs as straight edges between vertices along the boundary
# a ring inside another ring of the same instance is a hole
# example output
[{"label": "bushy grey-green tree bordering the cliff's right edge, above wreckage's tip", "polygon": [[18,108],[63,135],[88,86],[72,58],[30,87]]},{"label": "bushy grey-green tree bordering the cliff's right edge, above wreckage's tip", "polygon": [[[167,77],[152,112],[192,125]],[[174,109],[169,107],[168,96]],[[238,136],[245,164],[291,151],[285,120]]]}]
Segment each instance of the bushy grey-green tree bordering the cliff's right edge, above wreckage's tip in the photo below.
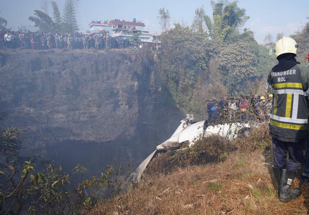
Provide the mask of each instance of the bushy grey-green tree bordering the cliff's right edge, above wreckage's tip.
[{"label": "bushy grey-green tree bordering the cliff's right edge, above wreckage's tip", "polygon": [[177,23],[175,28],[162,34],[161,42],[160,75],[166,88],[183,112],[200,112],[202,117],[202,111],[197,109],[204,106],[197,100],[205,96],[196,93],[195,88],[200,76],[204,77],[202,74],[207,71],[211,41],[204,34],[196,34],[192,28]]}]

